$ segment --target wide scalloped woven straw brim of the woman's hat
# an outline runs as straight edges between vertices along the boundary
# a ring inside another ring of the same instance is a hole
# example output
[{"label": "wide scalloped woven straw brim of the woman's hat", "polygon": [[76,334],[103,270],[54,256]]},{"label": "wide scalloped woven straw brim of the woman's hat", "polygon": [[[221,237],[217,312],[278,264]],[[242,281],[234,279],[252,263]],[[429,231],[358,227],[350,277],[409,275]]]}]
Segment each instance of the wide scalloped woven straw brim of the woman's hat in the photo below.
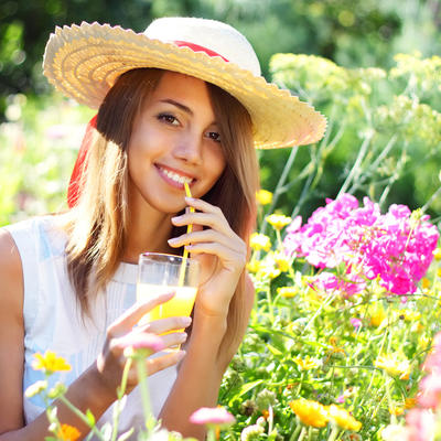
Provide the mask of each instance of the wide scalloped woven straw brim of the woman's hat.
[{"label": "wide scalloped woven straw brim of the woman's hat", "polygon": [[249,111],[256,148],[275,149],[319,141],[326,119],[312,106],[261,76],[173,43],[99,23],[56,28],[44,53],[44,75],[69,98],[98,108],[122,73],[139,67],[174,71],[213,83]]}]

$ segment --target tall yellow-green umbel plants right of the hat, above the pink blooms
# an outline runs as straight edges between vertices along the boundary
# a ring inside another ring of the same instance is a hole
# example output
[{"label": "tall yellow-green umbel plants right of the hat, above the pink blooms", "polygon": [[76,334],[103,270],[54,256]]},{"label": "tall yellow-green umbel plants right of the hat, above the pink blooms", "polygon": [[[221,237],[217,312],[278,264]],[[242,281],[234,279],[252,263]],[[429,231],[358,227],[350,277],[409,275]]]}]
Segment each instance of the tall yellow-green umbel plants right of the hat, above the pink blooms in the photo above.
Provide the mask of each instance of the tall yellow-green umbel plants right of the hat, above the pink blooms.
[{"label": "tall yellow-green umbel plants right of the hat, above the pink blooms", "polygon": [[[309,215],[325,197],[367,194],[441,214],[440,57],[400,54],[389,71],[345,68],[316,56],[276,54],[273,80],[327,116],[312,148],[260,155],[272,208]],[[411,66],[411,67],[410,67]],[[290,162],[290,159],[292,163]],[[286,164],[289,163],[289,168]],[[287,171],[287,178],[279,182]]]}]

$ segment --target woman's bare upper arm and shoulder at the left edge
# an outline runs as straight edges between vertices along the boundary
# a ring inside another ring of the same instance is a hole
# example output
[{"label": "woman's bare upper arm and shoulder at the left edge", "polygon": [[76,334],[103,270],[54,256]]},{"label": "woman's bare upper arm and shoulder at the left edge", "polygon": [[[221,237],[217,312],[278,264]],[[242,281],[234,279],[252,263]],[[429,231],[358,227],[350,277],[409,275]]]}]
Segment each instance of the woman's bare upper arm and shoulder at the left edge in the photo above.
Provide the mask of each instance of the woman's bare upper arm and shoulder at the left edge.
[{"label": "woman's bare upper arm and shoulder at the left edge", "polygon": [[19,250],[0,228],[0,433],[23,426],[23,275]]}]

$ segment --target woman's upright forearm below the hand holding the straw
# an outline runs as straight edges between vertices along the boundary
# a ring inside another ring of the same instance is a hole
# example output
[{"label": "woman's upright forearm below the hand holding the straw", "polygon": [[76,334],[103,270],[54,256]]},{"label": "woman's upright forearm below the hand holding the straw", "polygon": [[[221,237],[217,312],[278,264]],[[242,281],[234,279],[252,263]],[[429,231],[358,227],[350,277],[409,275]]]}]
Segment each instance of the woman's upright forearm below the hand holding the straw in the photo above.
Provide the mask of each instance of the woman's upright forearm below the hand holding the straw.
[{"label": "woman's upright forearm below the hand holding the straw", "polygon": [[160,416],[169,430],[204,439],[205,429],[191,424],[189,418],[201,407],[216,406],[225,370],[219,347],[226,327],[226,316],[195,315],[186,356]]}]

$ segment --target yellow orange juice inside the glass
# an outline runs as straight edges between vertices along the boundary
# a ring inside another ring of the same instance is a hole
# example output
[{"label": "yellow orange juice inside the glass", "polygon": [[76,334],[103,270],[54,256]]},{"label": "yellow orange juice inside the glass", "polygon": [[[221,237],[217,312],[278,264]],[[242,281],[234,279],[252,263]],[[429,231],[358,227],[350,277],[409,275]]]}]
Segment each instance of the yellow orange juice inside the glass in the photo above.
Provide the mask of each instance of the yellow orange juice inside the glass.
[{"label": "yellow orange juice inside the glass", "polygon": [[171,316],[190,316],[197,292],[197,288],[194,287],[169,287],[166,284],[138,283],[137,300],[144,302],[166,292],[174,292],[175,294],[173,299],[153,308],[153,310],[144,315],[142,319],[143,322],[151,322],[153,320],[168,319]]}]

